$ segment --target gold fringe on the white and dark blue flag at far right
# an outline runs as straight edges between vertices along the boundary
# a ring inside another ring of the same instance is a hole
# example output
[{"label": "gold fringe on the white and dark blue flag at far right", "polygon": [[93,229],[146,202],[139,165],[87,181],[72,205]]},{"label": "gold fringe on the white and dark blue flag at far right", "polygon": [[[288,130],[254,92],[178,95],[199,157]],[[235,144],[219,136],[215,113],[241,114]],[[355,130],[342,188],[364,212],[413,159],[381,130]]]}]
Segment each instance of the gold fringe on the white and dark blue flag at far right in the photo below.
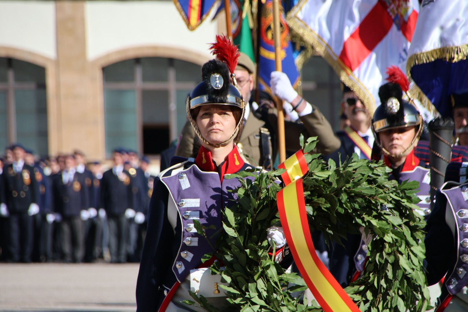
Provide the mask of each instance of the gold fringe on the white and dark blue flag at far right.
[{"label": "gold fringe on the white and dark blue flag at far right", "polygon": [[438,116],[439,111],[437,111],[434,104],[429,101],[424,92],[417,86],[416,82],[411,77],[410,70],[413,66],[420,64],[427,64],[433,62],[437,59],[445,60],[446,62],[456,63],[468,58],[468,44],[455,47],[443,47],[434,49],[431,51],[426,51],[422,53],[413,54],[408,58],[406,63],[406,73],[408,79],[410,80],[409,93],[417,98],[421,105],[432,113],[434,116]]}]

